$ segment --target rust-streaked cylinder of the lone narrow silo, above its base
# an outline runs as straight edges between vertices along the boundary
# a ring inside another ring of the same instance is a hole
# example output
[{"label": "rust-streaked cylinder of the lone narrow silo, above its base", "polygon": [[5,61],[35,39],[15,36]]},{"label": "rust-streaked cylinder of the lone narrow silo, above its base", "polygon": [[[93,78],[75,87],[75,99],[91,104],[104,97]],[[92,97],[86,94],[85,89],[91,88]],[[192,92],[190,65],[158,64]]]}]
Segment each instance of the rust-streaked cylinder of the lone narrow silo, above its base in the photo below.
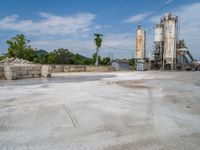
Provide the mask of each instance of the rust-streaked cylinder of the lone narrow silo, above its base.
[{"label": "rust-streaked cylinder of the lone narrow silo, above its base", "polygon": [[136,59],[144,59],[146,56],[146,32],[138,26],[136,30]]}]

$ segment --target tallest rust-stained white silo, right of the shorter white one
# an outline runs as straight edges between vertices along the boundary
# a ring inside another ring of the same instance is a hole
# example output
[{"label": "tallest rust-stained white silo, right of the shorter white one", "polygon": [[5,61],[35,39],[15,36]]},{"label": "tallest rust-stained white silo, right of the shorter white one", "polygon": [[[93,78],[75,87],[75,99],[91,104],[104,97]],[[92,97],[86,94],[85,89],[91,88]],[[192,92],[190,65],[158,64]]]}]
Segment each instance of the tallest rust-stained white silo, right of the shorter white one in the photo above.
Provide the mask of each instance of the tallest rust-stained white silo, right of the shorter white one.
[{"label": "tallest rust-stained white silo, right of the shorter white one", "polygon": [[178,17],[171,13],[166,13],[161,19],[161,24],[164,27],[163,59],[165,65],[170,65],[171,69],[174,69],[176,65],[177,21]]}]

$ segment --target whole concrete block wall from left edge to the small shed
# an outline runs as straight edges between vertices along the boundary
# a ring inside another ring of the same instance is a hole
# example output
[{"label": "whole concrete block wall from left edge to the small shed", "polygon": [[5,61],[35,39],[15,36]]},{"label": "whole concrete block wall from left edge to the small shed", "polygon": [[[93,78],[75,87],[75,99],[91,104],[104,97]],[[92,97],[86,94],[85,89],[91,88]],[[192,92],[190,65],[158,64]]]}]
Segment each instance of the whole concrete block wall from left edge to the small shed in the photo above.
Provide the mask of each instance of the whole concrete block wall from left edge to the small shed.
[{"label": "whole concrete block wall from left edge to the small shed", "polygon": [[86,65],[5,65],[0,66],[0,79],[14,80],[24,78],[50,77],[51,72],[109,72],[110,66]]}]

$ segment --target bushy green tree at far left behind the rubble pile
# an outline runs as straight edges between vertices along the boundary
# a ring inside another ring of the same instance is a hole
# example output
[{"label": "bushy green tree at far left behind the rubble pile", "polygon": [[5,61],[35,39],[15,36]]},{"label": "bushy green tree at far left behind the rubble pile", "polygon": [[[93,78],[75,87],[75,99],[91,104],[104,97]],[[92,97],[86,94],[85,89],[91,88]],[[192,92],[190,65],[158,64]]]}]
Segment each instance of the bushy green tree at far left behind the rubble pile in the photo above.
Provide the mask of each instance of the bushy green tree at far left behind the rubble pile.
[{"label": "bushy green tree at far left behind the rubble pile", "polygon": [[17,57],[32,61],[35,57],[35,50],[29,45],[30,40],[27,40],[25,35],[17,34],[11,40],[7,40],[8,57]]}]

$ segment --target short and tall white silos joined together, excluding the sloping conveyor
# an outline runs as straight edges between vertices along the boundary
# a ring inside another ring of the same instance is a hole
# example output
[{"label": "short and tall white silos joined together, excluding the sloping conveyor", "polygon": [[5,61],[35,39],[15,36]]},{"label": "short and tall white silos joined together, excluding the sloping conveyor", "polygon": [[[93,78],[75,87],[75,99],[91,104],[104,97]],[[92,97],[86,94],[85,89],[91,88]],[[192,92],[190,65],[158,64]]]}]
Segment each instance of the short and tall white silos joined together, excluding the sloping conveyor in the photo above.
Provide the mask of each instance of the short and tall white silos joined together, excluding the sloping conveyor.
[{"label": "short and tall white silos joined together, excluding the sloping conveyor", "polygon": [[178,17],[166,13],[154,28],[154,69],[175,69]]}]

